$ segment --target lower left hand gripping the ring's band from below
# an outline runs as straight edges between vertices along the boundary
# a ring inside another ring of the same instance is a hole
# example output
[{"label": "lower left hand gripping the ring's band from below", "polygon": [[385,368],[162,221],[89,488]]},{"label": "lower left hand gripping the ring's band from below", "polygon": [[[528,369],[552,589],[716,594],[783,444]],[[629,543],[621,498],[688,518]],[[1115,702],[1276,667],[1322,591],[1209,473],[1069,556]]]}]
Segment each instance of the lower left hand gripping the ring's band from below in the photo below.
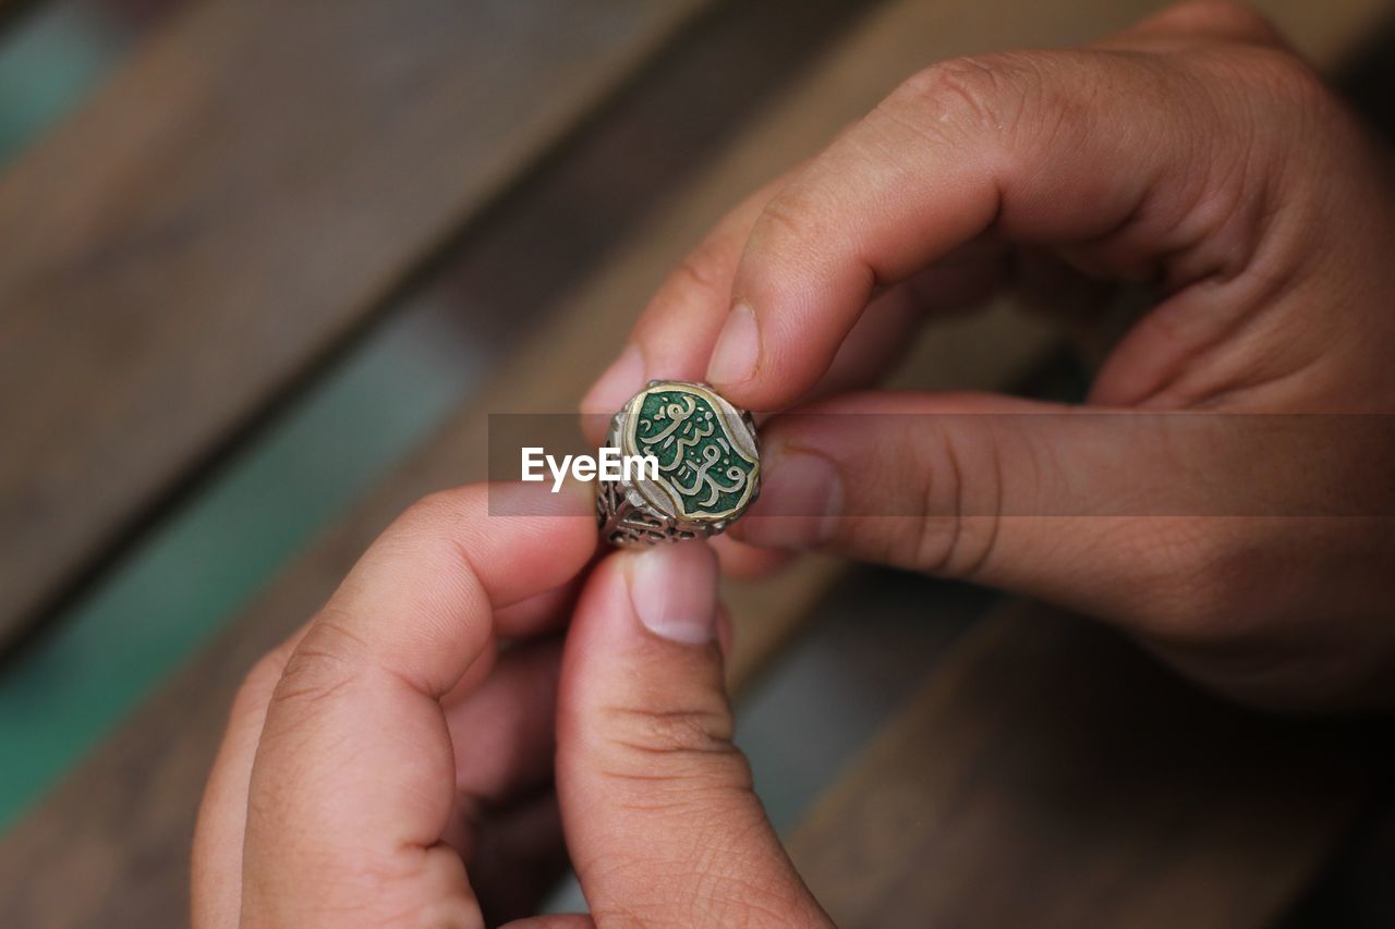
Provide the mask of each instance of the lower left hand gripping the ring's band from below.
[{"label": "lower left hand gripping the ring's band from below", "polygon": [[492,492],[554,515],[427,498],[248,677],[194,925],[492,925],[534,911],[564,829],[591,915],[527,925],[827,925],[731,743],[710,550],[611,555],[573,610],[594,522]]}]

